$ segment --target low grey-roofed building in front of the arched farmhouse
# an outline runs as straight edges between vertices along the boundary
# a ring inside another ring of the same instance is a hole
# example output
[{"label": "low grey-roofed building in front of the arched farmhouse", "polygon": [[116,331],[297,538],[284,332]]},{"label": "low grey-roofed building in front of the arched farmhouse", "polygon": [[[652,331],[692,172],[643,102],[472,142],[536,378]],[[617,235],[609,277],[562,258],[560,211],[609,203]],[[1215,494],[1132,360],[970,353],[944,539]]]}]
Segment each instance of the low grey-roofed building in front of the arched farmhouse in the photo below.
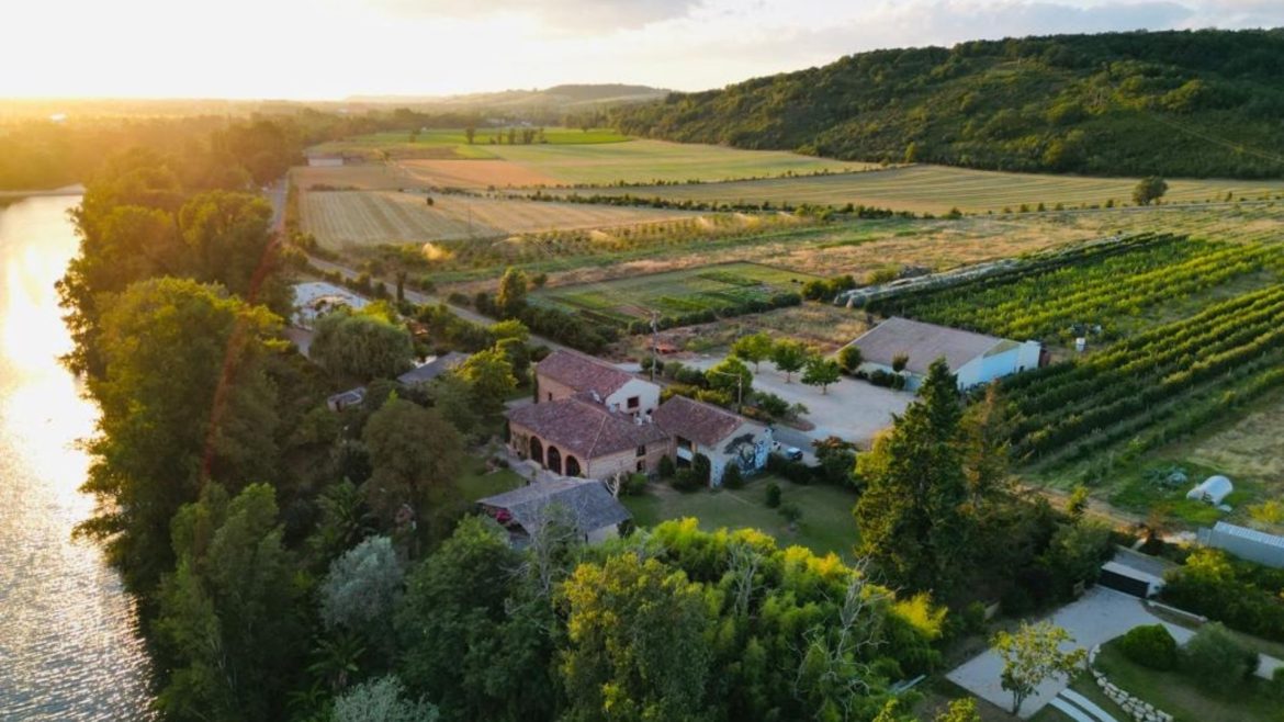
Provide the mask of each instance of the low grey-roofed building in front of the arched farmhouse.
[{"label": "low grey-roofed building in front of the arched farmhouse", "polygon": [[478,505],[508,529],[516,547],[529,543],[550,522],[566,520],[586,542],[594,543],[619,536],[620,524],[632,519],[601,482],[587,479],[537,482],[488,496]]}]

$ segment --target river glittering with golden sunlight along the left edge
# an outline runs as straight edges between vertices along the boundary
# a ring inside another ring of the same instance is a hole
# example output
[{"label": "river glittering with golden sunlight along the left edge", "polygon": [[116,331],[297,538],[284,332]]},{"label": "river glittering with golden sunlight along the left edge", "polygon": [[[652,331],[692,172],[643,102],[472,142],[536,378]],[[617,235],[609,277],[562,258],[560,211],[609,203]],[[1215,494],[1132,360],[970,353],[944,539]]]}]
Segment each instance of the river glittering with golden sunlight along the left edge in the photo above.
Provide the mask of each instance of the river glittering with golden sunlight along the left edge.
[{"label": "river glittering with golden sunlight along the left edge", "polygon": [[56,357],[54,281],[77,197],[0,207],[0,721],[146,719],[150,665],[119,576],[72,538],[89,516],[76,441],[98,410]]}]

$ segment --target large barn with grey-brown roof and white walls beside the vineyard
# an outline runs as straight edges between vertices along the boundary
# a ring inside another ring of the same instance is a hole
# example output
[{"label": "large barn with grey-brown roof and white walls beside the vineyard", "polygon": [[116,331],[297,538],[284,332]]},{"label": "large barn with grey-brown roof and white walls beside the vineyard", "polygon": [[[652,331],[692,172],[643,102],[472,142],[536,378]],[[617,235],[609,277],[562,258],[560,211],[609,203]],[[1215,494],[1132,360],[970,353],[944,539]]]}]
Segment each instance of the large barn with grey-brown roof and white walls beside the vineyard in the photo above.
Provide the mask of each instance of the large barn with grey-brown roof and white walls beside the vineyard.
[{"label": "large barn with grey-brown roof and white walls beside the vineyard", "polygon": [[860,349],[860,370],[865,373],[892,373],[898,357],[903,357],[909,389],[918,388],[927,367],[941,357],[958,376],[959,388],[967,389],[1035,369],[1043,352],[1036,340],[1018,343],[900,317],[887,319],[849,346]]}]

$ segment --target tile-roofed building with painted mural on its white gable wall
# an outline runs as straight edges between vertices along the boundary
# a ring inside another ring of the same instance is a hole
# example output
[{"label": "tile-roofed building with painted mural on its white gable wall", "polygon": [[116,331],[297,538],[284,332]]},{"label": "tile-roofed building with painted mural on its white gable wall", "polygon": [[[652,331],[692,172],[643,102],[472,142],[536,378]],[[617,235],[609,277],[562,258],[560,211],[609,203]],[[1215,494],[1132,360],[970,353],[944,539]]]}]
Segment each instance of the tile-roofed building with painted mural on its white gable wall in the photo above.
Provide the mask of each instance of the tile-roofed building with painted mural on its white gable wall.
[{"label": "tile-roofed building with painted mural on its white gable wall", "polygon": [[655,423],[673,438],[678,466],[688,466],[696,453],[709,457],[710,483],[722,484],[728,464],[741,471],[767,465],[772,429],[716,406],[674,396],[655,412]]}]

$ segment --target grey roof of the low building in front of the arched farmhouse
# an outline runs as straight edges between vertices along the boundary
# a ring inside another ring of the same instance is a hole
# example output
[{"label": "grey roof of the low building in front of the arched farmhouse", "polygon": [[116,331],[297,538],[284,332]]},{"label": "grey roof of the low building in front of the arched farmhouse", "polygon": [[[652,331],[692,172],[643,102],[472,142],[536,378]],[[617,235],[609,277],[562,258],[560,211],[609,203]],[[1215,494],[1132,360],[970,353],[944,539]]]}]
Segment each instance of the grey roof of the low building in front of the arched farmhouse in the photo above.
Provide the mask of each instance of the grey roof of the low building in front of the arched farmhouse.
[{"label": "grey roof of the low building in front of the arched farmhouse", "polygon": [[535,482],[478,500],[478,504],[507,510],[528,532],[537,528],[544,520],[544,515],[556,506],[570,513],[582,532],[592,532],[633,518],[601,482],[593,479]]}]

